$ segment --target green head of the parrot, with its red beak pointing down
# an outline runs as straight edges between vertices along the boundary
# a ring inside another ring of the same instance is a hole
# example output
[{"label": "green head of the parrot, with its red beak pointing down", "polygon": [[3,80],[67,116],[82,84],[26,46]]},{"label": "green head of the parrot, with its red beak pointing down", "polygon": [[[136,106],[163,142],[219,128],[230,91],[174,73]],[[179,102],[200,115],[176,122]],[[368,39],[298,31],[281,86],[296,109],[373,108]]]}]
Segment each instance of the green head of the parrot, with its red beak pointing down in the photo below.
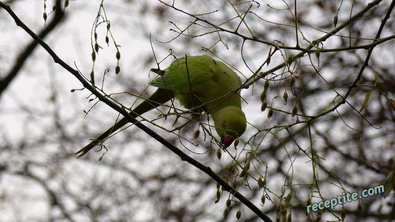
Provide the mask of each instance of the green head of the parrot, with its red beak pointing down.
[{"label": "green head of the parrot, with its red beak pointing down", "polygon": [[225,107],[219,110],[215,113],[213,119],[215,130],[221,137],[224,148],[231,146],[236,138],[244,133],[247,127],[247,120],[244,112],[240,108],[234,106]]}]

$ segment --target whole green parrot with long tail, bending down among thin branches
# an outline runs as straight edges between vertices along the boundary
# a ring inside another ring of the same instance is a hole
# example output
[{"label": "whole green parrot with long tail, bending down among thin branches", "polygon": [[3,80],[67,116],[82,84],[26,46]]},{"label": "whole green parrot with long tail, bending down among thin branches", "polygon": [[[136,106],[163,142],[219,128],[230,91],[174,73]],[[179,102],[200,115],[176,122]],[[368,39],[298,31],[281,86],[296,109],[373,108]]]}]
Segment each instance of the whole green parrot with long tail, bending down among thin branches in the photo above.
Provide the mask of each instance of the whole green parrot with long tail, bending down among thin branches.
[{"label": "whole green parrot with long tail, bending down among thin branches", "polygon": [[[129,113],[131,116],[138,117],[175,97],[185,108],[211,115],[224,148],[229,147],[246,129],[247,120],[241,110],[241,79],[221,61],[208,55],[178,58],[150,84],[158,90],[134,108]],[[122,118],[74,154],[79,154],[77,158],[85,155],[127,123],[127,119]]]}]

